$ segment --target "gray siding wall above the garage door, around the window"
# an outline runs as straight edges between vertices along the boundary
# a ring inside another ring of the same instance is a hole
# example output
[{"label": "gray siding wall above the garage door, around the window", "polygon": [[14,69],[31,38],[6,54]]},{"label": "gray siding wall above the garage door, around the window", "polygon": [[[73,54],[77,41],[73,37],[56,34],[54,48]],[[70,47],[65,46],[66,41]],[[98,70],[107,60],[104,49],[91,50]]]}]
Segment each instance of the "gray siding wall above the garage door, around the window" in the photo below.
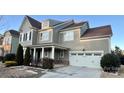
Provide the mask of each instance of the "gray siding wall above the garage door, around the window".
[{"label": "gray siding wall above the garage door, around the window", "polygon": [[63,37],[61,36],[62,32],[60,32],[59,44],[72,50],[85,49],[86,51],[104,51],[104,53],[109,53],[109,38],[99,40],[80,40],[80,30],[81,29],[70,30],[74,31],[74,40],[72,41],[63,41]]}]

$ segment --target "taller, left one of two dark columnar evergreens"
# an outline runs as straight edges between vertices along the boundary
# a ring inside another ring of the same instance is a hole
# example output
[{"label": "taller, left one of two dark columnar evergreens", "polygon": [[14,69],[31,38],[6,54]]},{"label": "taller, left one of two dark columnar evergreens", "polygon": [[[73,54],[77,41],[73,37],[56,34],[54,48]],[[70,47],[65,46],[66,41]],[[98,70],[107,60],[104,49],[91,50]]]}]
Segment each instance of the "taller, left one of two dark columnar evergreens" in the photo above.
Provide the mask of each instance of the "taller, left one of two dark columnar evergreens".
[{"label": "taller, left one of two dark columnar evergreens", "polygon": [[17,48],[16,61],[18,65],[23,65],[23,47],[21,44]]}]

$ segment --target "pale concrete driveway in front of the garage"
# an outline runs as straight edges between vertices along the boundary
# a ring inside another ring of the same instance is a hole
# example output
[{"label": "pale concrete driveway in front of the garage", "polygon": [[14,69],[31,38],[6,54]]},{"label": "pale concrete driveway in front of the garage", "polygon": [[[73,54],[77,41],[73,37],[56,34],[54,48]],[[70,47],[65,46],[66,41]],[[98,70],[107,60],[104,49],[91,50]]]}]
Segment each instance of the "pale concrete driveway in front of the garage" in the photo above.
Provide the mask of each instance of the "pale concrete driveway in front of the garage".
[{"label": "pale concrete driveway in front of the garage", "polygon": [[67,66],[47,71],[41,78],[100,78],[101,69]]}]

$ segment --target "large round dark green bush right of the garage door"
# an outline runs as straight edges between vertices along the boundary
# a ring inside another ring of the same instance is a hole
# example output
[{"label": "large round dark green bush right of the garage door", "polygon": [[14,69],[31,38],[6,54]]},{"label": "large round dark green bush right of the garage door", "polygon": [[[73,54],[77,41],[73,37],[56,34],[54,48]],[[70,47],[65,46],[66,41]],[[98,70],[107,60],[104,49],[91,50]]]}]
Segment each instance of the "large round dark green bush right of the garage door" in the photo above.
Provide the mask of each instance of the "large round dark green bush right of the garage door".
[{"label": "large round dark green bush right of the garage door", "polygon": [[105,72],[117,72],[120,64],[119,57],[114,54],[105,54],[101,59],[101,67]]}]

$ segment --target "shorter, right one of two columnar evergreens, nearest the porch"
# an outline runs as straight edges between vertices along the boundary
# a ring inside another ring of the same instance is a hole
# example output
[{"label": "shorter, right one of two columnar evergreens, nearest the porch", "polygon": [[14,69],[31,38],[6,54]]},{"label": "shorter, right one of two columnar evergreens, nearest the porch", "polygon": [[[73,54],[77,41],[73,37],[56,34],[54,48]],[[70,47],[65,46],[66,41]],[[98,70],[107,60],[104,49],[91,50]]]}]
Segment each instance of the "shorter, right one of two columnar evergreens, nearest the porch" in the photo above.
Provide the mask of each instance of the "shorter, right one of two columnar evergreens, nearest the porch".
[{"label": "shorter, right one of two columnar evergreens, nearest the porch", "polygon": [[25,51],[24,65],[29,66],[30,62],[31,62],[30,48],[27,47]]}]

